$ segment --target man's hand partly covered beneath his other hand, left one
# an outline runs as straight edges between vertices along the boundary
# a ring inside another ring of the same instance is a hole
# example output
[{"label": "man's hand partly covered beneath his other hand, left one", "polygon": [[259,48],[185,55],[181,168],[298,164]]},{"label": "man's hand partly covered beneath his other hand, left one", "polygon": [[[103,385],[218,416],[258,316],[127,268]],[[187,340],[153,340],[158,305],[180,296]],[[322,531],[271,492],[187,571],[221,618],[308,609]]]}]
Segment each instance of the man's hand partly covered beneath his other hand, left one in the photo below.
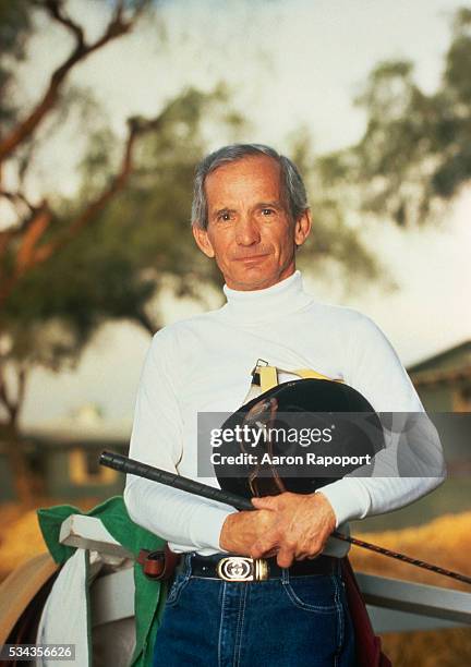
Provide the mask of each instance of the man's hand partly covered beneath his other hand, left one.
[{"label": "man's hand partly covered beneath his other hand, left one", "polygon": [[277,514],[265,509],[229,514],[222,524],[219,546],[225,551],[251,556],[254,543],[274,530],[276,522]]}]

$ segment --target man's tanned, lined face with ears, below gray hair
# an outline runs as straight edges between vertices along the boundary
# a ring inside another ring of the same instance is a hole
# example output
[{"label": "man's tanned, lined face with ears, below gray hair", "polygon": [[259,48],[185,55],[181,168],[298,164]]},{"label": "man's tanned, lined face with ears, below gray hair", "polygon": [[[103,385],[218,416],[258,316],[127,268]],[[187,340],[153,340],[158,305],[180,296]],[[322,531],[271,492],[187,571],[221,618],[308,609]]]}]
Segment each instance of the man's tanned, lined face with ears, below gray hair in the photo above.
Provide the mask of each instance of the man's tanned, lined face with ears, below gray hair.
[{"label": "man's tanned, lined face with ears, below gray hair", "polygon": [[219,167],[205,182],[207,230],[193,227],[200,248],[215,257],[233,290],[261,290],[294,271],[295,246],[311,228],[306,211],[291,219],[280,167],[269,156],[249,156]]}]

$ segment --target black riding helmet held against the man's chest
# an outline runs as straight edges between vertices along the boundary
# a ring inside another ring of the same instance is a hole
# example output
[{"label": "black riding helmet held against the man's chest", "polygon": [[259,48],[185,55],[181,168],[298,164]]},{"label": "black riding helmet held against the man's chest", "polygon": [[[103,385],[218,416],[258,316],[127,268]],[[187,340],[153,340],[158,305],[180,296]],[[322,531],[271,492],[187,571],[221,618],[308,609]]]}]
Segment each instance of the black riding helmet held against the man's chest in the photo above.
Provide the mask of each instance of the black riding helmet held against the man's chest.
[{"label": "black riding helmet held against the man's chest", "polygon": [[[221,428],[239,437],[218,448],[226,462],[215,466],[216,475],[222,489],[244,497],[313,493],[359,468],[370,475],[366,463],[385,446],[370,402],[346,384],[323,379],[281,383],[239,408]],[[327,457],[334,460],[326,465]]]}]

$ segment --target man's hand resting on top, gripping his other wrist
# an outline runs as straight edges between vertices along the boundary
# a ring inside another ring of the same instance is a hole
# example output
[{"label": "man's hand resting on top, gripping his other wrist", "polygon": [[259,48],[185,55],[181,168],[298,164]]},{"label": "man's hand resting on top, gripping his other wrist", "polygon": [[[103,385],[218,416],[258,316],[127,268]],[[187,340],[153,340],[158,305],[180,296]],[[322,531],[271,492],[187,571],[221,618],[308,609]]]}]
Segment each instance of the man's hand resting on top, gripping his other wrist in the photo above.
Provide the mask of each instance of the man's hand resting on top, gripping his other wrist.
[{"label": "man's hand resting on top, gripping his other wrist", "polygon": [[269,510],[275,520],[267,521],[267,530],[254,542],[250,555],[262,558],[278,551],[277,562],[281,568],[289,568],[294,559],[318,556],[336,527],[331,505],[322,493],[286,492],[252,498],[252,504],[258,510]]}]

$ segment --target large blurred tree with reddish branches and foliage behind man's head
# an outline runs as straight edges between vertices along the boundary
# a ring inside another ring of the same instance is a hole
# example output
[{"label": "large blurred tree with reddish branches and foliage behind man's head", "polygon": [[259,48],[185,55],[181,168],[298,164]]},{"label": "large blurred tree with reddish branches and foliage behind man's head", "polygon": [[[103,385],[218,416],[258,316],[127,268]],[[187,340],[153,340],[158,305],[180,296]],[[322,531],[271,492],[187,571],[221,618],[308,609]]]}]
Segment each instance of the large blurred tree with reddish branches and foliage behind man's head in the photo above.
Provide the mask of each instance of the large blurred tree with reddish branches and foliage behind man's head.
[{"label": "large blurred tree with reddish branches and foliage behind man's head", "polygon": [[[201,296],[202,282],[220,282],[214,265],[194,250],[188,218],[193,169],[205,147],[203,112],[213,105],[212,122],[229,126],[232,136],[241,126],[241,119],[226,108],[228,95],[222,88],[210,95],[189,89],[153,119],[129,119],[122,145],[106,125],[94,128],[76,197],[64,199],[57,194],[53,199],[33,201],[25,185],[45,120],[65,113],[84,98],[83,92],[74,96],[67,88],[70,72],[133,29],[149,4],[148,0],[114,0],[108,25],[93,43],[67,13],[64,0],[0,4],[0,29],[15,37],[0,52],[4,90],[14,88],[12,63],[25,53],[35,12],[62,26],[73,43],[32,110],[22,116],[19,105],[9,104],[0,117],[0,163],[8,162],[15,183],[7,187],[0,180],[0,196],[16,211],[15,221],[0,231],[0,411],[23,498],[31,483],[17,424],[29,369],[37,365],[60,369],[76,363],[107,319],[132,319],[154,332],[161,324],[155,299],[168,278],[177,293],[194,298]],[[121,146],[118,151],[117,145]],[[315,180],[306,146],[298,143],[295,151]],[[342,226],[336,201],[316,195],[315,205],[317,243],[311,259],[329,256],[351,263],[353,257],[371,274],[374,263],[354,233]]]}]

